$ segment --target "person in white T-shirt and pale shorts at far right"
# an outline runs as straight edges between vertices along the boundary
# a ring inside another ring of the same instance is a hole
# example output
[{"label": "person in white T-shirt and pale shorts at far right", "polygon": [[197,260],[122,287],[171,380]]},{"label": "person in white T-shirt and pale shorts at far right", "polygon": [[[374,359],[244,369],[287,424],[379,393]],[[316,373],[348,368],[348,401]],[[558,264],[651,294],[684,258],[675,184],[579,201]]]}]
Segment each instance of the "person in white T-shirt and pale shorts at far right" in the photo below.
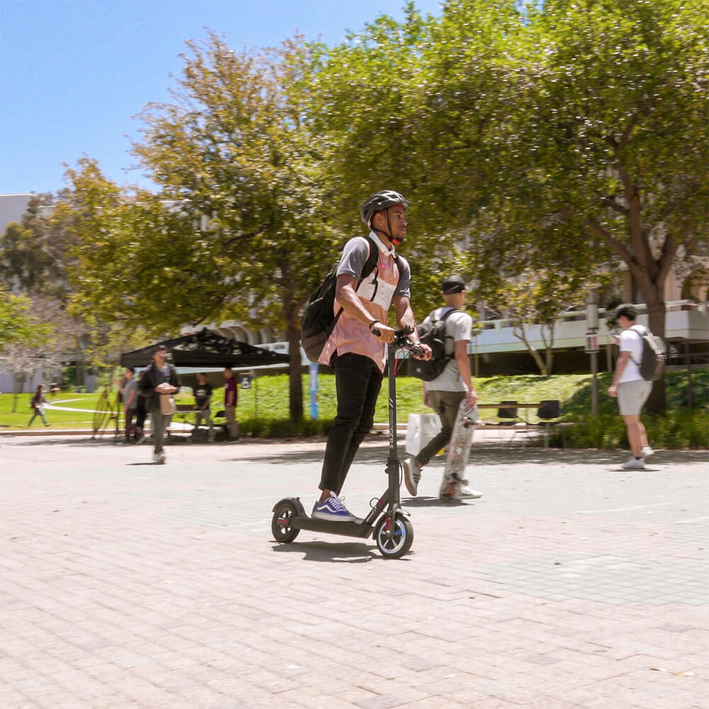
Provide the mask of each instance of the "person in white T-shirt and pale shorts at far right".
[{"label": "person in white T-shirt and pale shorts at far right", "polygon": [[640,411],[652,391],[652,381],[647,381],[640,374],[642,357],[642,330],[633,327],[637,311],[632,305],[623,305],[615,311],[615,318],[620,326],[620,357],[615,365],[613,384],[608,387],[610,396],[618,398],[618,409],[625,420],[627,439],[630,441],[632,457],[623,467],[625,469],[643,469],[645,459],[654,454],[648,445],[647,433],[640,420]]}]

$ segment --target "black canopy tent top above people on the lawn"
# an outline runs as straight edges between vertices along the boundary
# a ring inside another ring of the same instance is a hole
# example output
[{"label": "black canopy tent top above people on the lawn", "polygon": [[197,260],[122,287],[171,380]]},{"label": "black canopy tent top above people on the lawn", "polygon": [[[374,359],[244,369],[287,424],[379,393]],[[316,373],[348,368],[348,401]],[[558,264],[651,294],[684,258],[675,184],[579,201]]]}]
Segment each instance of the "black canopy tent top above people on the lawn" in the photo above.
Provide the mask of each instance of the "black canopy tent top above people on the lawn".
[{"label": "black canopy tent top above people on the lawn", "polygon": [[239,342],[203,328],[199,333],[155,342],[140,350],[121,354],[123,367],[147,367],[152,362],[152,352],[164,345],[169,352],[168,361],[175,367],[267,367],[272,364],[289,364],[287,354],[271,352],[262,347]]}]

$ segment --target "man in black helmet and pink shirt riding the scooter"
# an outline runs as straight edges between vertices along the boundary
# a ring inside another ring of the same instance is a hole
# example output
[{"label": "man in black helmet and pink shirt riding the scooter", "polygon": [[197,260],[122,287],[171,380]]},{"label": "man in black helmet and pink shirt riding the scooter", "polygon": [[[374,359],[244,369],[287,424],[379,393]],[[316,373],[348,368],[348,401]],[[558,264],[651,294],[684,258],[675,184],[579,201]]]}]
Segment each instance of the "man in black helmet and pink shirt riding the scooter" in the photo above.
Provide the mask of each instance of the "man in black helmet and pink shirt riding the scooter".
[{"label": "man in black helmet and pink shirt riding the scooter", "polygon": [[[389,189],[369,197],[359,208],[359,216],[370,230],[369,240],[350,239],[337,267],[335,313],[340,308],[342,313],[318,360],[335,370],[337,416],[325,447],[320,497],[312,513],[316,519],[355,519],[339,495],[359,445],[374,423],[386,345],[394,340],[395,330],[386,324],[391,303],[398,327],[413,328],[410,339],[418,343],[411,309],[411,270],[394,249],[406,238],[407,206],[405,197]],[[362,279],[372,247],[377,250],[376,268]],[[430,347],[423,348],[425,354],[419,358],[430,358]]]}]

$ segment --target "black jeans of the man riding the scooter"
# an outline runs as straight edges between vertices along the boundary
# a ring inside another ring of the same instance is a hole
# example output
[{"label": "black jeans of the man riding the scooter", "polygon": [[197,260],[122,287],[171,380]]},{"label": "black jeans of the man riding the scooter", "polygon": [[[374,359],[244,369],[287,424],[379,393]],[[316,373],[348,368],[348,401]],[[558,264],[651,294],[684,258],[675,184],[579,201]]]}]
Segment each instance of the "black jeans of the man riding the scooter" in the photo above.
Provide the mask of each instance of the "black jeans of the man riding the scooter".
[{"label": "black jeans of the man riding the scooter", "polygon": [[333,359],[337,417],[328,433],[320,490],[340,494],[359,444],[372,430],[382,374],[374,360],[347,352]]}]

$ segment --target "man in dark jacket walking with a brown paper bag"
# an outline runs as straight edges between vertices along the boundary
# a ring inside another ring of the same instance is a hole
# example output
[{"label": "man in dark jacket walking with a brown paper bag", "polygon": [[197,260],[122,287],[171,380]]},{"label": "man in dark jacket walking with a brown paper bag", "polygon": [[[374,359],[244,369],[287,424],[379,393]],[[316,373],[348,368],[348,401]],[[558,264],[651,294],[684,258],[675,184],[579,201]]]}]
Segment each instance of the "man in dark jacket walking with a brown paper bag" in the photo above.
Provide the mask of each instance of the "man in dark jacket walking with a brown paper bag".
[{"label": "man in dark jacket walking with a brown paper bag", "polygon": [[152,462],[162,464],[167,460],[162,439],[175,411],[172,394],[179,389],[180,384],[177,370],[167,362],[167,347],[155,347],[152,359],[152,364],[140,377],[138,387],[145,396],[145,409],[150,414]]}]

